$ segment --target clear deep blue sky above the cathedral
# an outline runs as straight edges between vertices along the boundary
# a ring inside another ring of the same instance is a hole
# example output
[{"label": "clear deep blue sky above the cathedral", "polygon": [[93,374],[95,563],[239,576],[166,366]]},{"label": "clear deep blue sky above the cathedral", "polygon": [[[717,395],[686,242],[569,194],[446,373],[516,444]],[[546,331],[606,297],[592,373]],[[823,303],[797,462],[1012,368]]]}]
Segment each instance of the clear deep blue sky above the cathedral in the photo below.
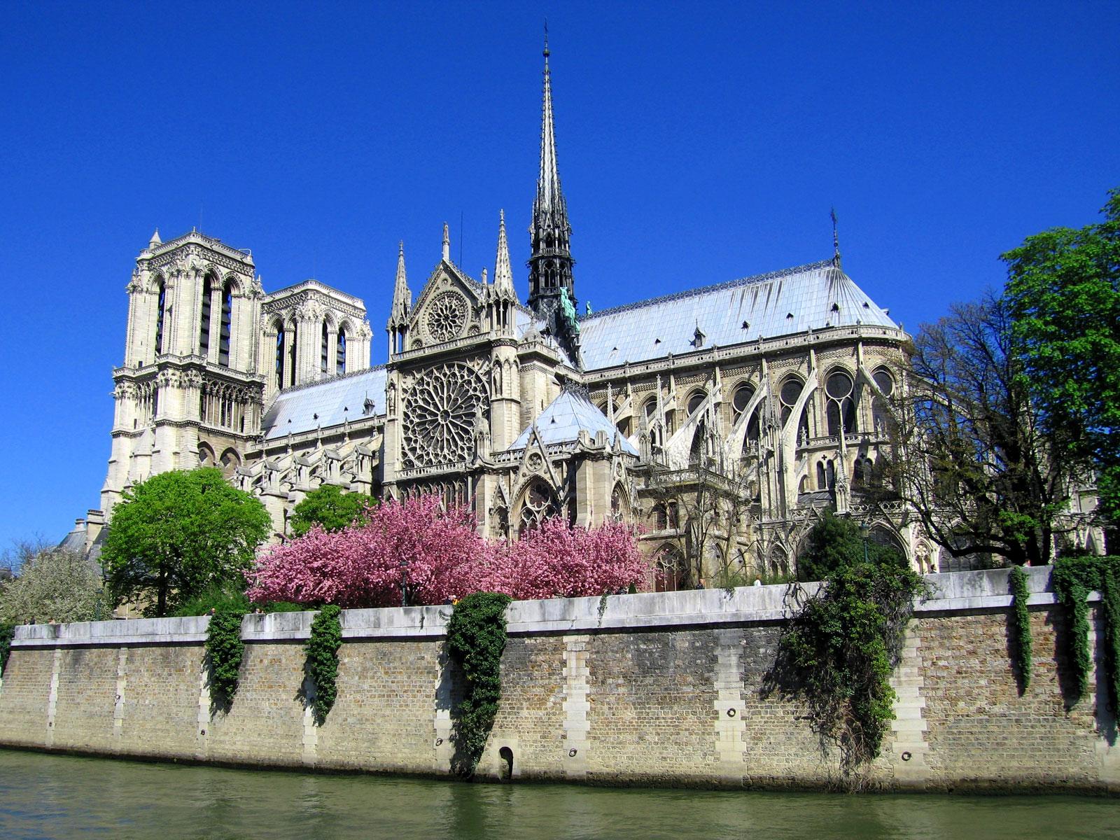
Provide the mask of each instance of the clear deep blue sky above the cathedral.
[{"label": "clear deep blue sky above the cathedral", "polygon": [[824,259],[834,205],[914,332],[1120,185],[1114,1],[232,6],[3,6],[0,545],[99,504],[152,228],[358,295],[376,336],[398,240],[413,289],[445,221],[477,277],[504,207],[523,265],[545,17],[596,308]]}]

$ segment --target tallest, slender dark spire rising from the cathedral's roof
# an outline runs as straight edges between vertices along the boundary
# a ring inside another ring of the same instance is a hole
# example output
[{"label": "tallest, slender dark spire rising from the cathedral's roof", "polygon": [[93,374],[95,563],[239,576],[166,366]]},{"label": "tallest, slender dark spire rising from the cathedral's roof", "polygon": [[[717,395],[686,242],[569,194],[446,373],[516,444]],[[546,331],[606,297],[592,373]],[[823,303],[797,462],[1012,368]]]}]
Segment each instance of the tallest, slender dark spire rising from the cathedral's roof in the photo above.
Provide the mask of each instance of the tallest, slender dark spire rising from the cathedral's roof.
[{"label": "tallest, slender dark spire rising from the cathedral's roof", "polygon": [[[576,289],[572,280],[568,207],[557,167],[556,125],[552,116],[552,71],[549,34],[544,27],[544,92],[541,104],[541,168],[533,199],[532,253],[529,258],[529,300],[536,317],[566,348],[575,351],[579,328],[575,323]],[[562,306],[567,298],[568,306]],[[571,312],[570,317],[566,312]]]}]

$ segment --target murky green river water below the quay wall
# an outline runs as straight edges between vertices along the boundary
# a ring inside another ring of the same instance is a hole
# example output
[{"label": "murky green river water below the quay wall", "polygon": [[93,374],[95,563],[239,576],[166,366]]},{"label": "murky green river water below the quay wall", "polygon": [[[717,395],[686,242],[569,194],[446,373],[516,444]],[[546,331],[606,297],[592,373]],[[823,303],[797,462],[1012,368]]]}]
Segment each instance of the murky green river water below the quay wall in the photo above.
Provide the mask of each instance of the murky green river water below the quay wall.
[{"label": "murky green river water below the quay wall", "polygon": [[465,784],[0,749],[0,838],[1096,838],[1120,803]]}]

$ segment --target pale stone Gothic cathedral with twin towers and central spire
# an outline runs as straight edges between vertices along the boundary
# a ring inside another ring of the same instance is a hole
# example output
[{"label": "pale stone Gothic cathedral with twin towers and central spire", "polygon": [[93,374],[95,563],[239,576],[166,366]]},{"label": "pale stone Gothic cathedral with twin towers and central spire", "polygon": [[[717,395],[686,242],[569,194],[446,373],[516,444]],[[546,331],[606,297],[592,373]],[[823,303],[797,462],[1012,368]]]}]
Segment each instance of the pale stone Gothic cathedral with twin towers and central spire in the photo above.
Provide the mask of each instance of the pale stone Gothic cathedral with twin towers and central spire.
[{"label": "pale stone Gothic cathedral with twin towers and central spire", "polygon": [[445,225],[438,261],[410,284],[402,244],[374,312],[384,365],[370,364],[362,299],[318,280],[267,292],[251,252],[152,235],[128,284],[87,536],[131,485],[203,465],[258,496],[277,539],[324,484],[437,492],[493,539],[551,515],[640,524],[674,588],[788,573],[833,506],[936,570],[905,510],[860,492],[887,446],[908,336],[843,272],[836,237],[819,262],[580,311],[554,132],[545,47],[528,296],[504,214],[491,277],[452,262]]}]

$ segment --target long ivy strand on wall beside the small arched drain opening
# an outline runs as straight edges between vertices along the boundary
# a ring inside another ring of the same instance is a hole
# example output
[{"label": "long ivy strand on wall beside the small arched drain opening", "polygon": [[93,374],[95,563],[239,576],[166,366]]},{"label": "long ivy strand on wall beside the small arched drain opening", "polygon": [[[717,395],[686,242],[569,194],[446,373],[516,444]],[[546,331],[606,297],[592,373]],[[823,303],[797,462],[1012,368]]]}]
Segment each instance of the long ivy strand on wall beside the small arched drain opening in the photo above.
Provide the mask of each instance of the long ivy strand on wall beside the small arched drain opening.
[{"label": "long ivy strand on wall beside the small arched drain opening", "polygon": [[447,625],[447,650],[463,671],[463,699],[452,711],[460,775],[482,758],[502,698],[505,607],[510,596],[475,592],[458,601]]}]

